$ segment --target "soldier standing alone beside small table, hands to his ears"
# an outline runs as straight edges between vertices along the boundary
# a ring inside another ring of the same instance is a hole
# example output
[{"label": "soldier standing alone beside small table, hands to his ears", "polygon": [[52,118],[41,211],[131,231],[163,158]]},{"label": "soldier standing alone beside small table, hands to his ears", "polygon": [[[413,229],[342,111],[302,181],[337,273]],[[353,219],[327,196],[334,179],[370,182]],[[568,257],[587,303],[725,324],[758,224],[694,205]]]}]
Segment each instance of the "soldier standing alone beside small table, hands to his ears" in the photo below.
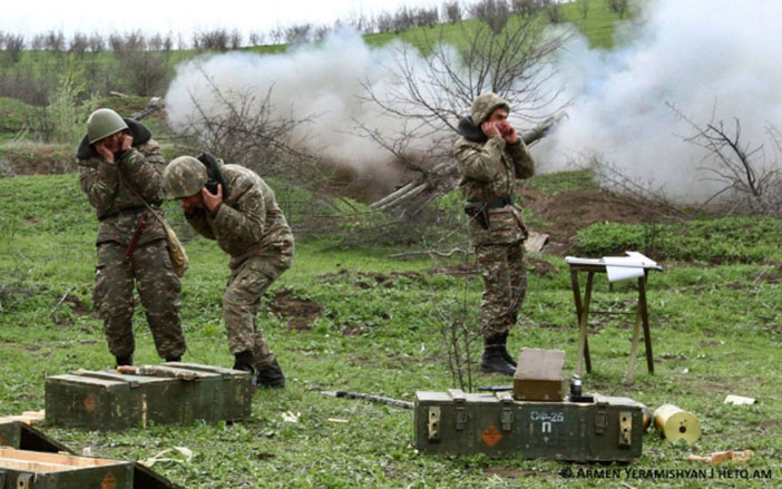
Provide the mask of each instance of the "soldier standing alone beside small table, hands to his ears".
[{"label": "soldier standing alone beside small table, hands to his ears", "polygon": [[512,375],[516,362],[506,344],[527,293],[527,228],[514,205],[514,190],[516,179],[531,177],[535,165],[508,121],[509,111],[508,102],[495,94],[476,98],[471,116],[459,121],[462,137],[453,153],[459,187],[468,201],[470,241],[483,277],[480,366],[485,372]]}]

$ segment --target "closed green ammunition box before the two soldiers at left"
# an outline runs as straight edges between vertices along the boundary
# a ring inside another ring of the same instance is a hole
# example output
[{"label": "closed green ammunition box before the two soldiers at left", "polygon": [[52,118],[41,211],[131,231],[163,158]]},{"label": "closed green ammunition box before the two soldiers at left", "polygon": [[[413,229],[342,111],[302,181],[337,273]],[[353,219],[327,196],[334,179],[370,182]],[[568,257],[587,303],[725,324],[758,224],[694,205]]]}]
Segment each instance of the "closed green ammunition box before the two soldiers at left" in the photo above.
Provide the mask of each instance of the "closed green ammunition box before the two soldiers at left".
[{"label": "closed green ammunition box before the two soldiers at left", "polygon": [[184,363],[145,368],[164,376],[80,370],[47,378],[47,421],[67,428],[121,430],[250,415],[248,372]]}]

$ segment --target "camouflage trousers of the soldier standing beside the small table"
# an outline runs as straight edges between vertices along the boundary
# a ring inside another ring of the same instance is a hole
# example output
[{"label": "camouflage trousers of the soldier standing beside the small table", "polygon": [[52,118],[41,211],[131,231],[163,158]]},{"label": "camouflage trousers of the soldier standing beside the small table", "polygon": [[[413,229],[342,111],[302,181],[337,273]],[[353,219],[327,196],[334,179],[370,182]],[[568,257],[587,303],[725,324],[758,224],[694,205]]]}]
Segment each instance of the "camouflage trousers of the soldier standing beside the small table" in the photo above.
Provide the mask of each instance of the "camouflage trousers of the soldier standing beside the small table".
[{"label": "camouflage trousers of the soldier standing beside the small table", "polygon": [[483,277],[480,303],[481,334],[496,336],[516,325],[527,295],[524,241],[476,246],[476,260]]}]

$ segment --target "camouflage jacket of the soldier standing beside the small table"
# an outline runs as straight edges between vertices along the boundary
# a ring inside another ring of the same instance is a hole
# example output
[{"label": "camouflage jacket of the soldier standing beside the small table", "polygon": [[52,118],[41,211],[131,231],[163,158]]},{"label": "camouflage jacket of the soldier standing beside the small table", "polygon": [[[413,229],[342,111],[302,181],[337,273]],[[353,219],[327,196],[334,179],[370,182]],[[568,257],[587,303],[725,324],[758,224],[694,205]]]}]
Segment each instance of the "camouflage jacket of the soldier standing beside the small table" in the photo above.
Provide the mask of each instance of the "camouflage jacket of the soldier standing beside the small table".
[{"label": "camouflage jacket of the soldier standing beside the small table", "polygon": [[[516,144],[507,144],[500,136],[487,139],[470,118],[462,119],[459,128],[462,137],[453,154],[460,176],[459,188],[468,202],[492,202],[512,196],[516,179],[529,178],[535,173],[532,158],[520,137]],[[473,246],[527,238],[521,212],[515,205],[489,209],[489,229],[485,229],[477,219],[469,221]]]}]

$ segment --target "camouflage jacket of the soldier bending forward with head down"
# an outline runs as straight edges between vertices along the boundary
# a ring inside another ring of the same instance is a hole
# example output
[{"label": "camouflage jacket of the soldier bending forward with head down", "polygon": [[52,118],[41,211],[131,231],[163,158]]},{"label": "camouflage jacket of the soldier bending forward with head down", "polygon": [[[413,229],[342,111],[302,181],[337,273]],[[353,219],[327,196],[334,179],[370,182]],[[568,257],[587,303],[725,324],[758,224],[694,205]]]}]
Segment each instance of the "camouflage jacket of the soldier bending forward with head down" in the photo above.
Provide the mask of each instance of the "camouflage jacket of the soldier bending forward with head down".
[{"label": "camouflage jacket of the soldier bending forward with head down", "polygon": [[231,255],[235,268],[251,256],[293,253],[293,233],[285,221],[274,190],[240,165],[222,165],[226,188],[223,203],[213,212],[198,209],[186,215],[193,227]]}]

